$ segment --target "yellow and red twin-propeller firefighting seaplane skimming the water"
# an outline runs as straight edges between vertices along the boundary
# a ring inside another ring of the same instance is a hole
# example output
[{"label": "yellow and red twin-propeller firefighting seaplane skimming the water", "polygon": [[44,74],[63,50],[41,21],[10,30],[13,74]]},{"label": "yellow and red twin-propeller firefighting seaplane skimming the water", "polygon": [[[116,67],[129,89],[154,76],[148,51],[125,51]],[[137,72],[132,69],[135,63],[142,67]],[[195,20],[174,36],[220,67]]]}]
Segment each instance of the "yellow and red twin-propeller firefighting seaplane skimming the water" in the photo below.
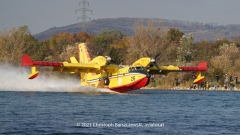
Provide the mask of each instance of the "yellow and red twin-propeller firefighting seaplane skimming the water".
[{"label": "yellow and red twin-propeller firefighting seaplane skimming the water", "polygon": [[34,79],[39,72],[37,66],[51,66],[53,71],[80,73],[80,84],[82,86],[91,86],[95,88],[108,88],[116,92],[128,92],[137,90],[148,85],[152,74],[164,74],[169,72],[196,72],[194,84],[199,84],[204,80],[201,76],[202,71],[207,70],[207,62],[202,62],[196,67],[178,67],[178,66],[158,66],[154,57],[140,58],[132,65],[121,66],[111,63],[109,56],[97,56],[93,60],[87,50],[87,45],[81,43],[78,45],[79,61],[75,57],[70,58],[69,62],[46,62],[32,61],[30,56],[22,56],[22,66],[31,66],[29,79]]}]

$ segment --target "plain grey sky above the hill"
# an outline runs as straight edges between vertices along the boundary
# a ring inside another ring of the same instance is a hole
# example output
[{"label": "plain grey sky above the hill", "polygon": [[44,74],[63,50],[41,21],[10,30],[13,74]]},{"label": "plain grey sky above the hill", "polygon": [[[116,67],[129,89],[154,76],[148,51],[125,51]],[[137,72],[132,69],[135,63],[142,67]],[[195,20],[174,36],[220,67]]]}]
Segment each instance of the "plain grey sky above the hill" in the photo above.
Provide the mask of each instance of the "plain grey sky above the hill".
[{"label": "plain grey sky above the hill", "polygon": [[[81,22],[82,0],[0,0],[0,31],[27,25],[32,34]],[[240,24],[240,0],[86,0],[91,20],[161,18],[219,25]]]}]

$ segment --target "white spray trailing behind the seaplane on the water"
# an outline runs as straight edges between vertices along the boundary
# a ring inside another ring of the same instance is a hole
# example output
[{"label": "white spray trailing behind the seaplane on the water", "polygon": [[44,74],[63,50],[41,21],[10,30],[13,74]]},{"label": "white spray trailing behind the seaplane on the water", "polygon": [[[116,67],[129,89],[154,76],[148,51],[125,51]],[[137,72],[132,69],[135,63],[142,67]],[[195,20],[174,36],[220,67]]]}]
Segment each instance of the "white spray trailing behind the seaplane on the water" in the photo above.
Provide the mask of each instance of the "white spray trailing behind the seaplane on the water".
[{"label": "white spray trailing behind the seaplane on the water", "polygon": [[114,93],[109,89],[81,86],[77,79],[46,77],[41,76],[41,73],[37,78],[29,80],[29,68],[0,64],[0,91]]}]

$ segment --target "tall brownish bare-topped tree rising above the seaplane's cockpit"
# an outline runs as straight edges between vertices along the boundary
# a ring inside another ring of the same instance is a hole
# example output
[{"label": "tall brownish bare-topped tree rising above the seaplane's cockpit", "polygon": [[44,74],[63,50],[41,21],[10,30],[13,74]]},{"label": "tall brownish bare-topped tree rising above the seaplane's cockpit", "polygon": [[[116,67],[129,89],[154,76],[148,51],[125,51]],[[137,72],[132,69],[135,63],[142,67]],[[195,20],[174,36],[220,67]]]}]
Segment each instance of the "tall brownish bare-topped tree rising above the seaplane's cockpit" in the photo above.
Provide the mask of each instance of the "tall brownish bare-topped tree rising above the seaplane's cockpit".
[{"label": "tall brownish bare-topped tree rising above the seaplane's cockpit", "polygon": [[[144,21],[134,25],[134,36],[128,46],[127,64],[131,64],[141,57],[146,57],[146,51],[154,57],[163,52],[165,31],[161,30],[162,23],[149,20],[147,26]],[[163,53],[160,55],[162,57]]]}]

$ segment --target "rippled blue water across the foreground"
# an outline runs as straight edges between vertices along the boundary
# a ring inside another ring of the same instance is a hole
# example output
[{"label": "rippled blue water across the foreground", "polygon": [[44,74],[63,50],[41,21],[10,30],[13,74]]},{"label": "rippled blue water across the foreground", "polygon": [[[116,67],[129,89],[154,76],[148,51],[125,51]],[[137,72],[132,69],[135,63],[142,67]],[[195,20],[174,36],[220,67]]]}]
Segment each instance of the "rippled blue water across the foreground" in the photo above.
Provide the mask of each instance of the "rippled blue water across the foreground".
[{"label": "rippled blue water across the foreground", "polygon": [[0,134],[239,134],[239,100],[234,91],[1,91]]}]

